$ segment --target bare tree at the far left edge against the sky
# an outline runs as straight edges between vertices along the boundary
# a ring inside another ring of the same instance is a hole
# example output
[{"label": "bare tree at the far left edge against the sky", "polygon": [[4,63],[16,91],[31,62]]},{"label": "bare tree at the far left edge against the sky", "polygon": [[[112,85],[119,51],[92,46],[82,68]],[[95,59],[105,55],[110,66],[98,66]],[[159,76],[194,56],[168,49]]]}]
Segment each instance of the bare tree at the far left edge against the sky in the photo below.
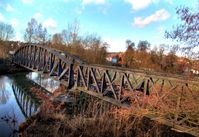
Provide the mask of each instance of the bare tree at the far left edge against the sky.
[{"label": "bare tree at the far left edge against the sky", "polygon": [[14,37],[14,29],[11,25],[0,23],[0,40],[7,41]]}]

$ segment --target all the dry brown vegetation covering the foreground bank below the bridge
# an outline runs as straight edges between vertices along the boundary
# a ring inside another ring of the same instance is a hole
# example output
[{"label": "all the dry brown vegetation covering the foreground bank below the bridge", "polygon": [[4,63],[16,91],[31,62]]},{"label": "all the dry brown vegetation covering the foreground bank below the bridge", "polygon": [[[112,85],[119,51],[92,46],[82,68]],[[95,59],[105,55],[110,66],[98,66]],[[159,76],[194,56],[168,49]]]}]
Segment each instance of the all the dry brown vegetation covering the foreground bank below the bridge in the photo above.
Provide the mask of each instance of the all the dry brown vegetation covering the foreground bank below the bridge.
[{"label": "all the dry brown vegetation covering the foreground bank below the bridge", "polygon": [[[62,90],[63,87],[56,90],[54,95],[58,97]],[[138,100],[135,100],[135,96],[139,97]],[[150,96],[134,92],[131,95],[132,107],[122,109],[86,94],[73,93],[76,102],[72,106],[72,115],[62,111],[67,104],[45,101],[40,112],[32,118],[32,124],[21,135],[191,136],[186,132],[197,135],[198,96],[198,92],[173,93],[165,90],[163,93],[154,91]]]}]

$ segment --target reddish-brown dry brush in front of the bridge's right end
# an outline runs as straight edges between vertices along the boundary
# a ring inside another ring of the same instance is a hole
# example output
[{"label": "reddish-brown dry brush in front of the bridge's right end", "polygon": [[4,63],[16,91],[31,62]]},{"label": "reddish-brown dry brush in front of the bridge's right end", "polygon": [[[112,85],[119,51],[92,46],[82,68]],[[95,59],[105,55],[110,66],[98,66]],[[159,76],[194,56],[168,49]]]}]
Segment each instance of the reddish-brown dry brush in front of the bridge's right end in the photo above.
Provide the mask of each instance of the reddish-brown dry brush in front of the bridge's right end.
[{"label": "reddish-brown dry brush in front of the bridge's right end", "polygon": [[150,96],[140,92],[129,94],[132,107],[124,114],[131,113],[147,116],[177,128],[178,131],[199,134],[199,92],[197,85],[189,86],[182,83],[165,85],[163,89],[159,84],[151,88]]}]

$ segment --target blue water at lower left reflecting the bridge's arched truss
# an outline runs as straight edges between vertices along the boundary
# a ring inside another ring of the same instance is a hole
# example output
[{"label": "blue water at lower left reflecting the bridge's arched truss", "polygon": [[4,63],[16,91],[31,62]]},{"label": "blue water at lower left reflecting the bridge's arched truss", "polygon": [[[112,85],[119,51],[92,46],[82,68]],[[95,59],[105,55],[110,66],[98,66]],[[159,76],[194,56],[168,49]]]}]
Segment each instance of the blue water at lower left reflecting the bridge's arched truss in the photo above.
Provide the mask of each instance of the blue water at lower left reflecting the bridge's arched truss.
[{"label": "blue water at lower left reflecting the bridge's arched truss", "polygon": [[27,85],[34,86],[24,74],[0,76],[0,137],[17,137],[19,124],[37,111]]}]

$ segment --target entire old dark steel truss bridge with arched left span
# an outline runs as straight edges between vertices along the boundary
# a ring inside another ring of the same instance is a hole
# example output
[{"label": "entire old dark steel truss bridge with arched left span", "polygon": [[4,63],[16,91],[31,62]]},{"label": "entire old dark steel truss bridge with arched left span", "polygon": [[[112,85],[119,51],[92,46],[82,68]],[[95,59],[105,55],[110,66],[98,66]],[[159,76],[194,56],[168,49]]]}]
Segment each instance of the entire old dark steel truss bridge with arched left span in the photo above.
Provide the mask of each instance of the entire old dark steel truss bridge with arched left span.
[{"label": "entire old dark steel truss bridge with arched left span", "polygon": [[191,91],[195,79],[183,76],[131,70],[121,67],[90,65],[68,52],[27,44],[13,55],[13,62],[31,71],[59,80],[68,89],[83,91],[112,104],[128,107],[129,96],[140,101],[152,91]]}]

